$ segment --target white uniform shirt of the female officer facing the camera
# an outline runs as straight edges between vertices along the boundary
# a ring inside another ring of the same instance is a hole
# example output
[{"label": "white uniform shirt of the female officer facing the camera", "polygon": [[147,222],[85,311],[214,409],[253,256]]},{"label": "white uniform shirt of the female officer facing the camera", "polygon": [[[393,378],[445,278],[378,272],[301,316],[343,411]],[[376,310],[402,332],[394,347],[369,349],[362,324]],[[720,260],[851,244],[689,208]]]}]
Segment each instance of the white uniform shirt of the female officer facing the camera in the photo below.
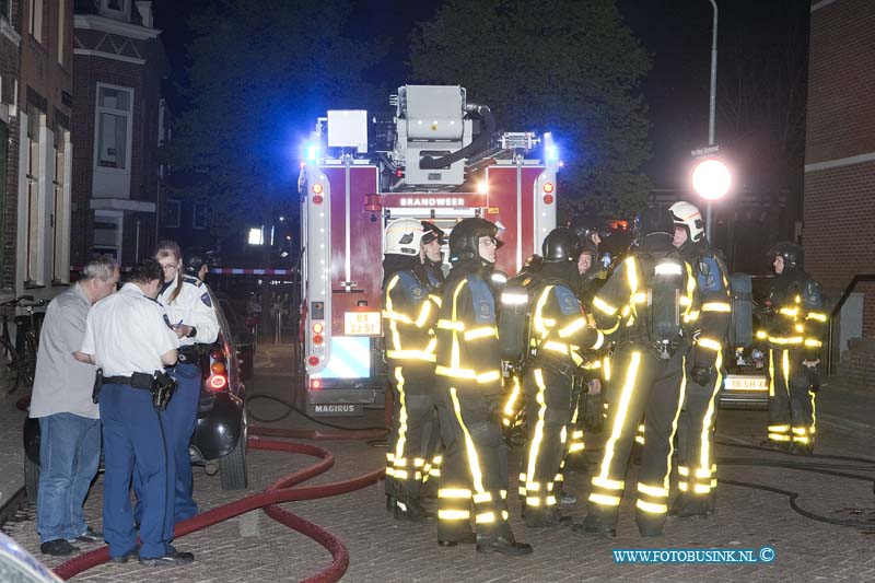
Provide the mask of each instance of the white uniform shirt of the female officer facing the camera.
[{"label": "white uniform shirt of the female officer facing the camera", "polygon": [[219,336],[219,318],[212,305],[209,288],[198,278],[183,276],[183,289],[179,291],[179,295],[171,301],[177,284],[178,279],[174,278],[166,288],[161,290],[158,303],[164,306],[171,325],[192,326],[197,329],[197,334],[192,338],[179,338],[179,346],[213,343]]}]

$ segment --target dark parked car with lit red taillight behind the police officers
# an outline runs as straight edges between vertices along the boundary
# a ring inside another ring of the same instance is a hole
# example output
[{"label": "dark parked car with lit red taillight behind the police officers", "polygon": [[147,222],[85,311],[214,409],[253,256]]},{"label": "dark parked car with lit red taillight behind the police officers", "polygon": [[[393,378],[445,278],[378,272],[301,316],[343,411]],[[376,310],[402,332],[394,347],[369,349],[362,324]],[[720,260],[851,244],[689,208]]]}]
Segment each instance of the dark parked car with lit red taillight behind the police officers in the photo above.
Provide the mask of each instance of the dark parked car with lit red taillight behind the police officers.
[{"label": "dark parked car with lit red taillight behind the police officers", "polygon": [[[252,374],[252,350],[246,355],[246,347],[242,347],[247,361],[242,364],[235,335],[223,312],[226,304],[214,294],[212,304],[219,318],[219,337],[202,355],[203,382],[189,451],[196,465],[218,463],[223,489],[243,490],[247,486],[244,371],[248,368]],[[25,420],[23,436],[24,485],[28,500],[35,503],[39,483],[39,422],[36,419]]]}]

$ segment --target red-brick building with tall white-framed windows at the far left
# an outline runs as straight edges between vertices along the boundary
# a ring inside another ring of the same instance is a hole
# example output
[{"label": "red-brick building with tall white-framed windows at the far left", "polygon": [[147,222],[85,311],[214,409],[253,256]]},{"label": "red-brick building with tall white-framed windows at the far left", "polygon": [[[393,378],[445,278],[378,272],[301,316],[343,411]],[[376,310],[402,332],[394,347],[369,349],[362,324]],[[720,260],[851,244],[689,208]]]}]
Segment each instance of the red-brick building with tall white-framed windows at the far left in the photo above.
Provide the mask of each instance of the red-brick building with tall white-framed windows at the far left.
[{"label": "red-brick building with tall white-framed windows at the far left", "polygon": [[[20,0],[14,290],[52,298],[70,279],[72,0]],[[8,172],[11,167],[8,167]],[[11,233],[10,233],[11,234]],[[11,260],[11,256],[7,259]]]}]

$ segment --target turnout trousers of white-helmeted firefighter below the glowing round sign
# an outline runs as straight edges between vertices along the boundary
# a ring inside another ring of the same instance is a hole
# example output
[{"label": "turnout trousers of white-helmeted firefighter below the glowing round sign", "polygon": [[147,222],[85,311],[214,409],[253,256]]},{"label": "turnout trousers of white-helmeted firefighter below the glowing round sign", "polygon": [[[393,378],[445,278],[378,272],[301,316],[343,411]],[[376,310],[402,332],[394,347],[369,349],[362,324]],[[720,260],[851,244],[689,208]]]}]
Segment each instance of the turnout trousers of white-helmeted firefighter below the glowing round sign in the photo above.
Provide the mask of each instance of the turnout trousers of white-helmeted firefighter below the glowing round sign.
[{"label": "turnout trousers of white-helmeted firefighter below the glowing round sign", "polygon": [[[688,366],[689,369],[689,363]],[[714,457],[714,422],[718,416],[716,397],[723,386],[723,353],[718,351],[712,382],[702,386],[687,375],[686,400],[677,430],[678,490],[676,509],[695,514],[713,510],[718,487],[718,465]],[[689,372],[689,371],[687,371]],[[696,511],[696,512],[693,512]],[[701,512],[698,512],[701,511]]]}]

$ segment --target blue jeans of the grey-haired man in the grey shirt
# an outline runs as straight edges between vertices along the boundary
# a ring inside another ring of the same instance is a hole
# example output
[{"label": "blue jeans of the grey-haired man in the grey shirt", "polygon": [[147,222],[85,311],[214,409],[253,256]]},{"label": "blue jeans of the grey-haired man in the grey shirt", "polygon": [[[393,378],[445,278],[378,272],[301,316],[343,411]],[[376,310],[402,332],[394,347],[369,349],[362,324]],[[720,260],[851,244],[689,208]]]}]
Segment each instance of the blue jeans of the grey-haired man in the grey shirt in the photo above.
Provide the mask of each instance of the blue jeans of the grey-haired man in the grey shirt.
[{"label": "blue jeans of the grey-haired man in the grey shirt", "polygon": [[39,418],[39,543],[74,539],[88,526],[82,504],[101,465],[101,420],[73,413]]}]

